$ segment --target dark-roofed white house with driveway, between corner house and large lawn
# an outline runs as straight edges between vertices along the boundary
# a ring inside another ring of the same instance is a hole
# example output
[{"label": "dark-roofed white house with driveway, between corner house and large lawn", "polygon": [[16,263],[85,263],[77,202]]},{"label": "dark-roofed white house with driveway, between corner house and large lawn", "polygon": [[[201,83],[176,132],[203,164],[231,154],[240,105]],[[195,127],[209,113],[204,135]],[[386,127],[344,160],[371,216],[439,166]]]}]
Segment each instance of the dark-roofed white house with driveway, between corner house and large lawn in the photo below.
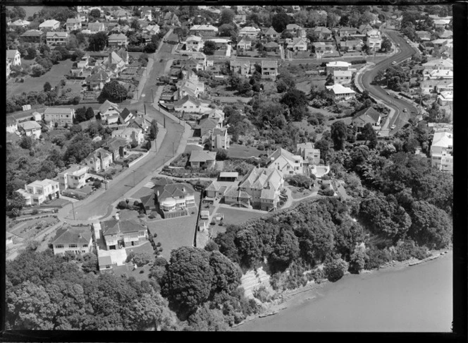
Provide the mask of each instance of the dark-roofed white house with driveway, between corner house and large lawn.
[{"label": "dark-roofed white house with driveway, between corner house and large lawn", "polygon": [[148,238],[147,228],[133,219],[111,219],[100,224],[107,250],[138,246]]}]

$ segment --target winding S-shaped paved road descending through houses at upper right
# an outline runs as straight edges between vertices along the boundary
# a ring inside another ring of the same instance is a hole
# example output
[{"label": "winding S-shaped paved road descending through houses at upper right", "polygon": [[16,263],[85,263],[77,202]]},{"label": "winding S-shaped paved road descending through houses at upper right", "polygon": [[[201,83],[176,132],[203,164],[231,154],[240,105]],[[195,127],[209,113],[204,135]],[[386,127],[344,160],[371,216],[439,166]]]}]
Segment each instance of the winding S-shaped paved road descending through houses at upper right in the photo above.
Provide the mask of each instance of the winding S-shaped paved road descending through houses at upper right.
[{"label": "winding S-shaped paved road descending through houses at upper right", "polygon": [[[394,54],[389,59],[384,59],[376,63],[376,65],[369,69],[368,71],[364,72],[362,76],[359,77],[358,82],[362,85],[362,88],[369,90],[369,93],[374,97],[381,99],[383,102],[388,105],[388,107],[392,107],[395,109],[395,115],[390,120],[389,127],[395,125],[395,128],[390,131],[390,134],[395,133],[400,128],[407,124],[408,119],[412,116],[412,112],[414,112],[413,116],[417,114],[417,108],[414,105],[406,100],[403,99],[396,99],[392,95],[388,95],[386,90],[381,88],[379,85],[371,85],[371,81],[374,80],[377,72],[381,69],[385,70],[386,68],[392,66],[392,62],[401,62],[407,58],[410,58],[412,54],[416,52],[416,50],[406,42],[405,38],[400,37],[398,32],[395,30],[385,30],[390,40],[393,40],[395,44],[400,44],[400,52]],[[403,109],[407,109],[407,112],[403,112]]]}]

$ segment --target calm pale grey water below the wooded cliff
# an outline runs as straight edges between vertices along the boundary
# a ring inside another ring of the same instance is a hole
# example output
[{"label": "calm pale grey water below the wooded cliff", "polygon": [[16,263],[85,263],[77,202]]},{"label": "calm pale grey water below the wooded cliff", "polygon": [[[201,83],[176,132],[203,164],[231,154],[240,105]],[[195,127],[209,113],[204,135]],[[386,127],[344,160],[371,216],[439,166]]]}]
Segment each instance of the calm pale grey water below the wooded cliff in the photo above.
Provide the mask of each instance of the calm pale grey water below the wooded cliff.
[{"label": "calm pale grey water below the wooded cliff", "polygon": [[400,270],[345,275],[236,331],[450,332],[452,252]]}]

